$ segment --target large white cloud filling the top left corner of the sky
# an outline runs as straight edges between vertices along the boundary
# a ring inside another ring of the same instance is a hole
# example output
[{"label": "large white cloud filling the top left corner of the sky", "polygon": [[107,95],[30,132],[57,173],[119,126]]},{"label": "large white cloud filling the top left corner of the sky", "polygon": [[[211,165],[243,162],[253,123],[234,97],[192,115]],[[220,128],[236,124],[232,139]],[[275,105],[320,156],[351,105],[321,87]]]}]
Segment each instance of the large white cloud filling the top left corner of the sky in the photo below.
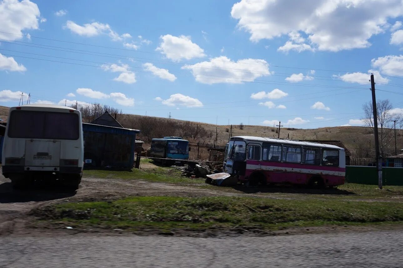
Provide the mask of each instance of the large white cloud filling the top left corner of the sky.
[{"label": "large white cloud filling the top left corner of the sky", "polygon": [[[23,30],[38,29],[40,12],[37,4],[24,0],[0,1],[0,38],[19,40]],[[15,34],[9,34],[15,33]]]}]

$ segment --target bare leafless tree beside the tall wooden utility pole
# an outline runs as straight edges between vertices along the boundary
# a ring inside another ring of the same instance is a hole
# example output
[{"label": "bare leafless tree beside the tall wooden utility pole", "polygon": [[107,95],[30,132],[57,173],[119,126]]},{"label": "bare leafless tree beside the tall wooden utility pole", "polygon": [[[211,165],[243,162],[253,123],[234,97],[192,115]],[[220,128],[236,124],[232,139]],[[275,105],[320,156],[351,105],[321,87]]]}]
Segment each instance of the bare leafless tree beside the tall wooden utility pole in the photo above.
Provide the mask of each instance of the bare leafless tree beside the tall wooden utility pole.
[{"label": "bare leafless tree beside the tall wooden utility pole", "polygon": [[[372,110],[372,102],[362,105],[364,110],[364,117],[361,119],[365,125],[372,128],[374,131],[374,117]],[[378,135],[379,135],[379,150],[382,157],[387,156],[394,151],[394,132],[393,122],[391,120],[398,120],[396,125],[397,132],[400,131],[402,126],[402,113],[393,110],[393,105],[388,99],[376,102],[376,116],[378,117]],[[393,149],[393,150],[392,150]],[[394,154],[394,153],[393,153]]]}]

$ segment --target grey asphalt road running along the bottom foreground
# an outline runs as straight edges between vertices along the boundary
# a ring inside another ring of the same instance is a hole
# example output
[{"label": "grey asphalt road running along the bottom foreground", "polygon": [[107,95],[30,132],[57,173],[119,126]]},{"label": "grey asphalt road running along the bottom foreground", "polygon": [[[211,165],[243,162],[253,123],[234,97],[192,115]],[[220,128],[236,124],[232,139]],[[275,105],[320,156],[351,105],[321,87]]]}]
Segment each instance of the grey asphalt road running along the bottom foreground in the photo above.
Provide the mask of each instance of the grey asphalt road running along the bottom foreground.
[{"label": "grey asphalt road running along the bottom foreground", "polygon": [[0,267],[402,267],[403,230],[191,238],[1,237]]}]

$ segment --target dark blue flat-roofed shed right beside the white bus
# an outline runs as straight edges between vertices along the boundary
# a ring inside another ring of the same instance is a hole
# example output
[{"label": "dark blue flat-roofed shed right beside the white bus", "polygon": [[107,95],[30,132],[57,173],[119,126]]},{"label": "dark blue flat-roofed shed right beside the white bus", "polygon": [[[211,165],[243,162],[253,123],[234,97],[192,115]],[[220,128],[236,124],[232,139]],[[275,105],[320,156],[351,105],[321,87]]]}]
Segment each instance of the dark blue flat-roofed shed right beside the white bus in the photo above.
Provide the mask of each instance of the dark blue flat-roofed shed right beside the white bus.
[{"label": "dark blue flat-roofed shed right beside the white bus", "polygon": [[139,130],[83,123],[83,132],[85,165],[133,167]]}]

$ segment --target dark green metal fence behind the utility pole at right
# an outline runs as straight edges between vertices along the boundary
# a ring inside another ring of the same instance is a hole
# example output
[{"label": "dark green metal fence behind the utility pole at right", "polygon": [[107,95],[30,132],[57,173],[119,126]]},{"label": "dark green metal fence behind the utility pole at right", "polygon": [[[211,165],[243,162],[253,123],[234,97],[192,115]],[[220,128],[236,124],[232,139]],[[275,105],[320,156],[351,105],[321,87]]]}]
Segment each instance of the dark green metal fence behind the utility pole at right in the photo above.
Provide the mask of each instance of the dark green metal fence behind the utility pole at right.
[{"label": "dark green metal fence behind the utility pole at right", "polygon": [[[376,167],[346,166],[346,182],[378,185]],[[382,185],[403,186],[403,168],[383,167]]]}]

